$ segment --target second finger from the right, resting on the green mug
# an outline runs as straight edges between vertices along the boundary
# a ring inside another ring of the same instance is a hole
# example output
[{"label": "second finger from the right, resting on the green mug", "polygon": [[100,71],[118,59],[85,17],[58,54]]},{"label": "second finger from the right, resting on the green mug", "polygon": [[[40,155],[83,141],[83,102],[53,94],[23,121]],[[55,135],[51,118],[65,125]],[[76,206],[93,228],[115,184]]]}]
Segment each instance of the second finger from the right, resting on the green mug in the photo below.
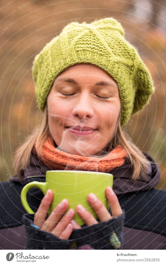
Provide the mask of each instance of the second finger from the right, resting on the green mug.
[{"label": "second finger from the right, resting on the green mug", "polygon": [[94,211],[97,213],[97,216],[101,222],[105,222],[112,218],[107,208],[94,193],[88,194],[88,202],[93,207]]}]

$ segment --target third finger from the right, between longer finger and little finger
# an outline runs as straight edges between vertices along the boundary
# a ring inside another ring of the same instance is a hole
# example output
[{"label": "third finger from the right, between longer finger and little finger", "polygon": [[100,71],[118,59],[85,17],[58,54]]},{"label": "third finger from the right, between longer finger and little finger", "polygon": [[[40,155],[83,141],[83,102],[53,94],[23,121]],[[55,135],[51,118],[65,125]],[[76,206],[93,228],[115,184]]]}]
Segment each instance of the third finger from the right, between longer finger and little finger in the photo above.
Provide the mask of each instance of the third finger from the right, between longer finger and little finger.
[{"label": "third finger from the right, between longer finger and little finger", "polygon": [[96,218],[94,218],[94,216],[92,215],[92,213],[89,213],[88,210],[86,210],[83,207],[83,205],[78,204],[76,206],[76,210],[77,210],[78,214],[80,215],[80,217],[84,220],[84,222],[87,225],[92,225],[92,224],[98,223]]}]

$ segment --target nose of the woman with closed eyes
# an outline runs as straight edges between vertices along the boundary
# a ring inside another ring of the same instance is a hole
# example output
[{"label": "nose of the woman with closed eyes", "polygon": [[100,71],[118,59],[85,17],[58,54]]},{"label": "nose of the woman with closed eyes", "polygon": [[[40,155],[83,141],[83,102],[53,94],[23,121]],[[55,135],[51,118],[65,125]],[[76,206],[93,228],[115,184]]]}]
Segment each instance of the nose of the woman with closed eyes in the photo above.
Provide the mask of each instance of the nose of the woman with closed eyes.
[{"label": "nose of the woman with closed eyes", "polygon": [[90,95],[83,94],[77,96],[77,100],[74,102],[73,115],[80,119],[85,119],[87,116],[91,118],[94,115],[94,106],[90,99]]}]

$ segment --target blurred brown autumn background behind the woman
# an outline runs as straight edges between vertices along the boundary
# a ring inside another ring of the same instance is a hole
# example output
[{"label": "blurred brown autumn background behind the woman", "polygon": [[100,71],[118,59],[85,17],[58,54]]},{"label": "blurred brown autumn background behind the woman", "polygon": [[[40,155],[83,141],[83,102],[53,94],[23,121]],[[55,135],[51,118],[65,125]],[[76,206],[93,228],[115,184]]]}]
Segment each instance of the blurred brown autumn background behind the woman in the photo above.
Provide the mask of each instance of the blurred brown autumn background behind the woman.
[{"label": "blurred brown autumn background behind the woman", "polygon": [[1,0],[0,15],[1,181],[15,174],[13,153],[42,119],[31,75],[35,55],[72,21],[113,17],[121,22],[126,39],[137,48],[154,80],[149,105],[131,117],[127,133],[159,163],[156,188],[166,190],[166,2]]}]

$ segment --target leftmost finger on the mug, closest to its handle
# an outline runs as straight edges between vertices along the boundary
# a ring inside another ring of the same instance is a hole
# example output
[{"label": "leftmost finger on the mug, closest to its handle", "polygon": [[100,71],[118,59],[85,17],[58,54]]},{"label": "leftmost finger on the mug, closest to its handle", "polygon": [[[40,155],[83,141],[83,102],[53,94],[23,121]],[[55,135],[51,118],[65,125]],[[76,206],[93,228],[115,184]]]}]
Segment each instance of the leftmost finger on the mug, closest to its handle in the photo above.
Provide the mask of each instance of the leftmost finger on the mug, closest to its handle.
[{"label": "leftmost finger on the mug, closest to its handle", "polygon": [[53,192],[48,189],[45,196],[41,200],[39,208],[34,215],[34,224],[37,225],[39,228],[42,227],[43,223],[45,222],[45,218],[47,216],[47,212],[50,206],[50,203],[53,199]]}]

